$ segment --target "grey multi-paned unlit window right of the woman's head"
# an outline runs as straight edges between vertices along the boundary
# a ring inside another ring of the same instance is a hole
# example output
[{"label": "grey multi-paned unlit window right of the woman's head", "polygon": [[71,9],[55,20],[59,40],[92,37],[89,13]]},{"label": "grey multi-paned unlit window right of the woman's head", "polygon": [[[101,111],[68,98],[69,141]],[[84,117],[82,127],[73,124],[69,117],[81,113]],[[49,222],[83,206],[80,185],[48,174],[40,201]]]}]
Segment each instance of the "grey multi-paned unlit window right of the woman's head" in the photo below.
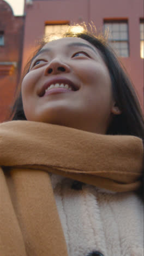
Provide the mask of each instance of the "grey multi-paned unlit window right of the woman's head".
[{"label": "grey multi-paned unlit window right of the woman's head", "polygon": [[109,42],[121,57],[129,56],[128,22],[125,20],[106,20],[104,29],[109,31]]}]

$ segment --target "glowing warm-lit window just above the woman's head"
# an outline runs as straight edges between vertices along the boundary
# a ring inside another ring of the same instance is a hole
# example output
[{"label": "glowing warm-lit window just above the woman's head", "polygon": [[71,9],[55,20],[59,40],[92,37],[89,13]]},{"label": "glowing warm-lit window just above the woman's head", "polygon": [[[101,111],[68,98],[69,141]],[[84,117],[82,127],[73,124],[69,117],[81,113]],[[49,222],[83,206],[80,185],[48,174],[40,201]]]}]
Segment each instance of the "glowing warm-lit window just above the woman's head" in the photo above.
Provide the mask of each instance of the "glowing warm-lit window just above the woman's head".
[{"label": "glowing warm-lit window just above the woman's head", "polygon": [[48,36],[49,40],[61,38],[68,30],[73,33],[81,33],[83,31],[83,27],[80,25],[70,26],[69,21],[45,22],[45,36]]}]

